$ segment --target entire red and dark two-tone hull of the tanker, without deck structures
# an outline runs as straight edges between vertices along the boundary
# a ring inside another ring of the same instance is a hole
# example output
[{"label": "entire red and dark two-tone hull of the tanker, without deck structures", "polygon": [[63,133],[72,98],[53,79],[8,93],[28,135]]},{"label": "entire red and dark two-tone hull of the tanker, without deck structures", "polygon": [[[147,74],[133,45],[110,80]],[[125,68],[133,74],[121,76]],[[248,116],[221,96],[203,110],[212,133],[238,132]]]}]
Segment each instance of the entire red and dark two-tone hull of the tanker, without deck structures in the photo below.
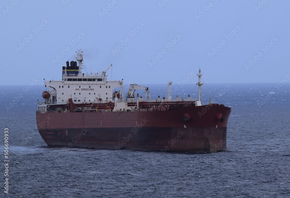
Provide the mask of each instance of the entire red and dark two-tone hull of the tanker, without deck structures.
[{"label": "entire red and dark two-tone hull of the tanker, without deck structures", "polygon": [[204,105],[167,111],[37,113],[36,118],[49,147],[219,152],[226,150],[230,113],[229,107]]}]

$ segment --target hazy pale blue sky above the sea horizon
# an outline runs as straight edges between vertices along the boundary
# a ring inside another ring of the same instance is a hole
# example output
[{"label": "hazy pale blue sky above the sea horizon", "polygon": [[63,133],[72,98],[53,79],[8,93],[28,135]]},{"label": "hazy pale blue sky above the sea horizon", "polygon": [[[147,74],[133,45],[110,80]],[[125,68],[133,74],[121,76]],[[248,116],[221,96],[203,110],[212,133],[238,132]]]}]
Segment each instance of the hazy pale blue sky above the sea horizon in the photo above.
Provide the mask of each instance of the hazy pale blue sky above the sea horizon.
[{"label": "hazy pale blue sky above the sea horizon", "polygon": [[[88,73],[128,83],[280,82],[289,74],[290,1],[1,1],[0,84]],[[113,73],[113,76],[111,76]]]}]

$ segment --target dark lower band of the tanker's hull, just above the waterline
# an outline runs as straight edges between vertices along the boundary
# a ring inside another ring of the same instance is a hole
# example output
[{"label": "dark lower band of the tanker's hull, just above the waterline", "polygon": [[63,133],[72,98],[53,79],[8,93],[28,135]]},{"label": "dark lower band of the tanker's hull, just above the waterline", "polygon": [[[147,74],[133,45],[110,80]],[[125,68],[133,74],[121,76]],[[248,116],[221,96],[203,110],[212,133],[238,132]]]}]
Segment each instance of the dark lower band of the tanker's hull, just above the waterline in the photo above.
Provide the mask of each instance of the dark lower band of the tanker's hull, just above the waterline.
[{"label": "dark lower band of the tanker's hull, just above the waterline", "polygon": [[182,152],[226,150],[226,127],[39,129],[49,147]]}]

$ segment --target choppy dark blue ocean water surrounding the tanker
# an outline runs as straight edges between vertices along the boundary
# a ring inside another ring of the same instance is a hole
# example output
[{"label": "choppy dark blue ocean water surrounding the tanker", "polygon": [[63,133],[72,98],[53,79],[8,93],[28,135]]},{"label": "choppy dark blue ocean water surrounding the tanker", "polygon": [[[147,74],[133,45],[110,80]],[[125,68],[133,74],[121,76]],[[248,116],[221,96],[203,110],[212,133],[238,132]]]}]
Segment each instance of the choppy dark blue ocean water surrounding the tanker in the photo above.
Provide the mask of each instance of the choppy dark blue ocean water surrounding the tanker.
[{"label": "choppy dark blue ocean water surrounding the tanker", "polygon": [[[212,102],[232,108],[225,152],[48,148],[35,120],[44,86],[0,86],[0,197],[4,128],[9,197],[290,197],[290,84],[208,86]],[[148,87],[151,98],[166,95],[166,84]],[[197,98],[194,87],[172,84],[172,95]],[[209,95],[204,85],[204,104]]]}]

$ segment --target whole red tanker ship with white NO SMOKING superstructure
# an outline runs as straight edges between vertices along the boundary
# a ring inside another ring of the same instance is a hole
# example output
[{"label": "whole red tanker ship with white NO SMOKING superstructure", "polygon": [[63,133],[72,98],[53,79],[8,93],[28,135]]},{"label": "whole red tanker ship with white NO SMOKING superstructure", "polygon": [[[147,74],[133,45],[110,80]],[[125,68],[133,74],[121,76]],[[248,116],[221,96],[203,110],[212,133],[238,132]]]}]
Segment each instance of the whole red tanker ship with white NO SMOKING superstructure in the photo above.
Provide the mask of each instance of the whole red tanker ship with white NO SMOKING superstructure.
[{"label": "whole red tanker ship with white NO SMOKING superstructure", "polygon": [[[231,108],[211,102],[202,105],[200,69],[198,98],[188,95],[173,99],[169,81],[166,97],[152,100],[149,88],[138,84],[130,84],[124,94],[123,79],[107,78],[106,71],[112,65],[100,73],[88,74],[83,52],[76,53],[77,61],[67,61],[62,67],[62,80],[44,79],[44,102],[38,101],[36,121],[49,147],[207,153],[226,150]],[[136,90],[144,94],[135,94]]]}]

